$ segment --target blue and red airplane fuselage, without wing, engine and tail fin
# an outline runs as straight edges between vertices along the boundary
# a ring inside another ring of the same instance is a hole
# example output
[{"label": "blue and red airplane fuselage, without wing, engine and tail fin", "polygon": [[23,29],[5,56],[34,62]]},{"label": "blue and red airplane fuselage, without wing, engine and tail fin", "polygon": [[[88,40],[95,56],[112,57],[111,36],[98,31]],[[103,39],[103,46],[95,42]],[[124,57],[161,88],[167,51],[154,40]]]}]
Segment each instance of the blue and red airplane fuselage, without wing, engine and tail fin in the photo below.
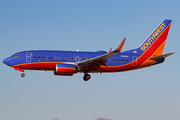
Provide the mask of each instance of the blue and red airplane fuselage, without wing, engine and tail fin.
[{"label": "blue and red airplane fuselage, without wing, engine and tail fin", "polygon": [[[50,51],[50,50],[33,50],[23,51],[13,54],[6,58],[3,62],[13,68],[24,70],[56,70],[58,63],[78,63],[105,54],[105,51],[98,52],[76,52],[76,51]],[[107,59],[106,66],[100,66],[100,72],[120,72],[138,68],[138,63],[143,63],[149,56],[143,56],[138,59],[141,54],[130,53],[129,51],[118,53]],[[155,62],[146,64],[153,65]],[[144,66],[144,67],[146,67]],[[89,69],[89,72],[96,72]],[[78,71],[78,72],[81,72]]]}]

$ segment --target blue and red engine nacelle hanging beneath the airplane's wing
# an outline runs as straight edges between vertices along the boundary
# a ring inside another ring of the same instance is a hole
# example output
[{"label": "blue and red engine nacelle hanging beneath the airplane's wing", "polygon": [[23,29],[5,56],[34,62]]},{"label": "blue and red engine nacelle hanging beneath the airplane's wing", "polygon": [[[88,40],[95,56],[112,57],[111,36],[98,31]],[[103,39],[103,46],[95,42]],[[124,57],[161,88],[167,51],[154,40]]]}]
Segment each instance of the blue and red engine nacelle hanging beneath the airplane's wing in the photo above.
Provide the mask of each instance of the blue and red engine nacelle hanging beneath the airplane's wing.
[{"label": "blue and red engine nacelle hanging beneath the airplane's wing", "polygon": [[72,64],[56,64],[54,75],[72,76],[77,72],[76,65]]}]

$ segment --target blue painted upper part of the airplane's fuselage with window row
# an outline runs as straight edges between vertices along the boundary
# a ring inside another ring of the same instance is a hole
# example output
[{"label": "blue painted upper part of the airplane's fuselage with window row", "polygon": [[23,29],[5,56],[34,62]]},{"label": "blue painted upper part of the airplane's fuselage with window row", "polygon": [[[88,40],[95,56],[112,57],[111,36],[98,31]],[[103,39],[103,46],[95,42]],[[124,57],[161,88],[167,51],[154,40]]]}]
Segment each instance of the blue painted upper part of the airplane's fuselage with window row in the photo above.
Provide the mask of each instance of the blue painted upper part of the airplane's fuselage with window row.
[{"label": "blue painted upper part of the airplane's fuselage with window row", "polygon": [[[33,50],[18,52],[13,55],[19,57],[8,57],[3,62],[11,67],[19,64],[37,63],[37,62],[79,62],[105,54],[105,52],[76,52],[76,51],[50,51]],[[140,56],[131,51],[118,53],[107,59],[107,66],[120,66],[133,61],[133,56]]]}]

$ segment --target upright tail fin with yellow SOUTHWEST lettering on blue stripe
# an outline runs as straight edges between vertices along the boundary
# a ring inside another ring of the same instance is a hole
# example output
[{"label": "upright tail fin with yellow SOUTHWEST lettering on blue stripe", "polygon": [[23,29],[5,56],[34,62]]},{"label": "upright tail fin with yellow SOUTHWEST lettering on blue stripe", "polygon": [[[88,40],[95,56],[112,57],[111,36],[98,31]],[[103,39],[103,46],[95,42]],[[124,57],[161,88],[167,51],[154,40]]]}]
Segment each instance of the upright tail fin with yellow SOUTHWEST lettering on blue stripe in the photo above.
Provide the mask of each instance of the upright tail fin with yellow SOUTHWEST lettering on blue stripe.
[{"label": "upright tail fin with yellow SOUTHWEST lettering on blue stripe", "polygon": [[137,49],[139,53],[148,56],[162,55],[172,20],[163,20],[161,24]]}]

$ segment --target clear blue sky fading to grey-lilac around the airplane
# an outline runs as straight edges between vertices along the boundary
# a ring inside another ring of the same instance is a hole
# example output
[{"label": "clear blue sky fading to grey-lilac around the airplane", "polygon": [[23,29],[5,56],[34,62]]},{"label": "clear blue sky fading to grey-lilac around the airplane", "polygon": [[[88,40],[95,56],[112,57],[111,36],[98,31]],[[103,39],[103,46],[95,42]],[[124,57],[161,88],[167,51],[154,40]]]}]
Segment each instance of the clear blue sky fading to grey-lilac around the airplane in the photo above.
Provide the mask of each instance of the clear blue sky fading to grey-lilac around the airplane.
[{"label": "clear blue sky fading to grey-lilac around the airplane", "polygon": [[0,63],[1,120],[179,120],[178,0],[0,0],[0,60],[25,50],[122,51],[172,19],[163,64],[128,72],[21,72]]}]

